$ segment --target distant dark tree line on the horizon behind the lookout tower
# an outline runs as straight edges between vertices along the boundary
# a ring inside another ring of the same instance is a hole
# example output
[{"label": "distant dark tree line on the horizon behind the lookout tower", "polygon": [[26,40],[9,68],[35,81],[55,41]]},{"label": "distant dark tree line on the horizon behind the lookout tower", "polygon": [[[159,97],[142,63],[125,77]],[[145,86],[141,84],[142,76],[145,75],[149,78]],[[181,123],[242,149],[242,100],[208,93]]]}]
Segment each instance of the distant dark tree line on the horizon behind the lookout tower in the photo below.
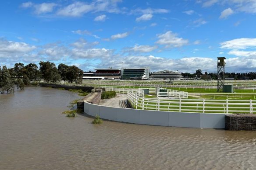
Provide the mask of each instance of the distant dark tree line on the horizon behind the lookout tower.
[{"label": "distant dark tree line on the horizon behind the lookout tower", "polygon": [[[196,70],[195,73],[181,73],[182,76],[185,78],[200,78],[203,80],[216,80],[217,79],[217,73],[202,73],[201,69]],[[256,79],[256,72],[249,72],[249,73],[225,73],[225,78],[234,78],[235,80],[254,80]]]}]

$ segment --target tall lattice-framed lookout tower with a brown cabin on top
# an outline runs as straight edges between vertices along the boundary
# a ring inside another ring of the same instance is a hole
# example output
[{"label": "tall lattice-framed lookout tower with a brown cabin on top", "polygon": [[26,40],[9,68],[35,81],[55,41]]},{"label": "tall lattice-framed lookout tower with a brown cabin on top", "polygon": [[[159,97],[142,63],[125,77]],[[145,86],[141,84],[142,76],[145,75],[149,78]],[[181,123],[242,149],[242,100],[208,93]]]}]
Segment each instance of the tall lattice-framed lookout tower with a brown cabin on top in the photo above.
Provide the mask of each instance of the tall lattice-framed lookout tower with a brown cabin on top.
[{"label": "tall lattice-framed lookout tower with a brown cabin on top", "polygon": [[217,92],[223,90],[224,80],[225,80],[225,57],[217,57]]}]

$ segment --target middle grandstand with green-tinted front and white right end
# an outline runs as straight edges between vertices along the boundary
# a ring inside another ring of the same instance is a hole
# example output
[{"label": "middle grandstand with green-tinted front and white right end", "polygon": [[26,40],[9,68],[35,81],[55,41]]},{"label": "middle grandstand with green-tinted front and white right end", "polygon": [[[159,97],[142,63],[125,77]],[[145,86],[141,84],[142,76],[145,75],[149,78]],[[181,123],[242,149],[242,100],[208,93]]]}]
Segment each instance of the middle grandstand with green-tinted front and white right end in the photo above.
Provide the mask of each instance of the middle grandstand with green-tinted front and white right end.
[{"label": "middle grandstand with green-tinted front and white right end", "polygon": [[144,68],[133,68],[123,69],[123,79],[124,80],[146,80],[149,79],[149,67]]}]

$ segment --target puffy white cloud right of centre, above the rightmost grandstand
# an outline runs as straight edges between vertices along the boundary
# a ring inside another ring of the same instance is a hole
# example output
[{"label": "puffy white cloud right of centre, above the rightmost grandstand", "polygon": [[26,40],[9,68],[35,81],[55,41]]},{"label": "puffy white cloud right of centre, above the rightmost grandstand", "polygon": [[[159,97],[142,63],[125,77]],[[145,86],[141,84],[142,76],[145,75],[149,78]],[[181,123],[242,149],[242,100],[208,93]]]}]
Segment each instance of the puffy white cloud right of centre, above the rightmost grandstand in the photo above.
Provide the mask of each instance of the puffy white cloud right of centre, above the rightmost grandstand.
[{"label": "puffy white cloud right of centre, above the rightmost grandstand", "polygon": [[177,37],[177,34],[172,33],[172,31],[167,31],[164,34],[159,34],[157,35],[157,38],[159,38],[159,40],[156,43],[160,45],[166,45],[166,48],[181,47],[188,44],[187,39]]}]

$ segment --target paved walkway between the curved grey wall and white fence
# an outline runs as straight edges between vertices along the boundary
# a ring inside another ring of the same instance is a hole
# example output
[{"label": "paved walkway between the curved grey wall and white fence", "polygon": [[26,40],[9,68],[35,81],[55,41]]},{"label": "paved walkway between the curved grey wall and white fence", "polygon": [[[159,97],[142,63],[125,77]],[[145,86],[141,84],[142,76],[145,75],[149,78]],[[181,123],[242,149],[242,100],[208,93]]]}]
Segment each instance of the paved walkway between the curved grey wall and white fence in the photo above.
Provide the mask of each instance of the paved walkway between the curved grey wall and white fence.
[{"label": "paved walkway between the curved grey wall and white fence", "polygon": [[100,100],[99,105],[111,106],[116,108],[129,108],[126,103],[127,94],[117,94],[117,97],[111,99]]}]

